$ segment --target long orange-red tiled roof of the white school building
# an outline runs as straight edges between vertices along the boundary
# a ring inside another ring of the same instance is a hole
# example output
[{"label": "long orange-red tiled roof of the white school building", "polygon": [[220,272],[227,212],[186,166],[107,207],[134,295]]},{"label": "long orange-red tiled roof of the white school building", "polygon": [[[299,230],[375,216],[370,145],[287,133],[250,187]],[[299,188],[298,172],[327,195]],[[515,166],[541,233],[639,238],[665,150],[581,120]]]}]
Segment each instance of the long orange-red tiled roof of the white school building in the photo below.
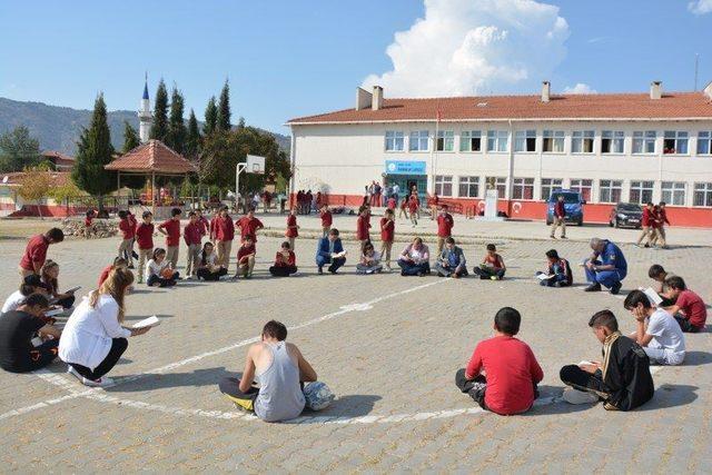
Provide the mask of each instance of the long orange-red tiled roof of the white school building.
[{"label": "long orange-red tiled roof of the white school building", "polygon": [[647,93],[557,95],[548,102],[541,96],[384,99],[379,110],[337,110],[287,123],[434,121],[438,109],[444,121],[712,119],[712,101],[703,92],[668,92],[662,99]]}]

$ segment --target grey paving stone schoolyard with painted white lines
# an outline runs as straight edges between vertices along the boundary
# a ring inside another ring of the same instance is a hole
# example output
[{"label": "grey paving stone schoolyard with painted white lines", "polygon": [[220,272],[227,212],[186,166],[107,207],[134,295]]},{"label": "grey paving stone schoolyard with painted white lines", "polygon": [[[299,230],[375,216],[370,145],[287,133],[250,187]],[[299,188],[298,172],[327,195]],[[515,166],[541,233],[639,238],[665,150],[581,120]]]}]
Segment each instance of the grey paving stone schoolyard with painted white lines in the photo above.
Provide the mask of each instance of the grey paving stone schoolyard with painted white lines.
[{"label": "grey paving stone schoolyard with painted white lines", "polygon": [[[506,231],[500,226],[496,236]],[[403,224],[402,231],[411,229]],[[590,230],[589,237],[606,231]],[[688,239],[685,230],[675,232]],[[497,239],[508,267],[503,281],[356,276],[353,241],[346,243],[350,258],[343,271],[318,276],[312,239],[297,241],[300,275],[273,279],[266,268],[281,239],[260,237],[251,280],[138,286],[127,299],[127,323],[154,314],[164,323],[130,339],[110,374],[116,387],[88,389],[61,362],[39,374],[0,373],[0,462],[8,472],[62,473],[709,472],[710,333],[688,336],[683,366],[656,369],[655,397],[640,410],[552,403],[563,389],[560,367],[600,355],[590,316],[611,308],[625,331],[633,330],[633,319],[620,297],[581,291],[578,268],[573,288],[542,288],[532,278],[547,249],[577,261],[589,255],[585,243]],[[16,288],[23,247],[21,240],[0,241],[2,296]],[[52,246],[60,286],[92,289],[117,247],[118,238]],[[630,264],[623,293],[647,286],[647,267],[657,263],[712,301],[711,248],[623,250]],[[467,245],[465,253],[472,266],[483,246]],[[545,374],[540,405],[512,417],[483,413],[453,383],[505,305],[522,313],[520,337]],[[291,424],[247,417],[217,389],[222,376],[241,370],[250,339],[270,318],[293,327],[289,340],[338,396],[329,408]]]}]

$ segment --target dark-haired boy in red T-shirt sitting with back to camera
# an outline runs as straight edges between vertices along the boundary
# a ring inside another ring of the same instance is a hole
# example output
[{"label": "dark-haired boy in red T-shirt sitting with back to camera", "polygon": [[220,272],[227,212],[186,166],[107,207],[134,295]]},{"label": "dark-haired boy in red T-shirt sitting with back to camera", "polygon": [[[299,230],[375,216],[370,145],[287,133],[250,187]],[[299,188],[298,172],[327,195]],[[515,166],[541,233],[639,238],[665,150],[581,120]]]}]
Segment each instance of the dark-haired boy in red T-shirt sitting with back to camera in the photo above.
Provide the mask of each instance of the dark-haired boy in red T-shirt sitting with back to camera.
[{"label": "dark-haired boy in red T-shirt sitting with back to camera", "polygon": [[517,310],[501,308],[494,317],[496,335],[479,342],[467,368],[455,375],[459,390],[483,409],[503,416],[528,410],[537,397],[536,385],[544,378],[532,349],[514,337],[521,323]]}]

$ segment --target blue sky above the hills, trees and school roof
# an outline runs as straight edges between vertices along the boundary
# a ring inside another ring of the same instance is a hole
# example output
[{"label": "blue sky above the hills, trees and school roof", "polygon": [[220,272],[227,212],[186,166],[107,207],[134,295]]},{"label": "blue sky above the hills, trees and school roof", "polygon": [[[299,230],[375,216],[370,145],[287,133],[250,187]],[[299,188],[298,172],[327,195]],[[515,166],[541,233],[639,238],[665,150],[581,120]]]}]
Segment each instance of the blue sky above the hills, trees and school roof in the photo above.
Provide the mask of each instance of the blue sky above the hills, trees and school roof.
[{"label": "blue sky above the hills, trees and school roof", "polygon": [[[447,48],[454,47],[445,43],[461,42],[449,31],[495,26],[500,46],[488,44],[484,52],[475,46],[466,53],[482,55],[505,72],[479,78],[475,86],[464,80],[441,89],[438,75],[452,73],[431,66],[437,61],[418,49],[419,33],[414,33],[403,47],[418,62],[416,82],[432,78],[426,90],[433,95],[462,88],[531,93],[542,79],[550,79],[555,91],[576,83],[597,92],[645,91],[656,79],[665,90],[691,90],[695,52],[701,53],[700,86],[712,80],[712,12],[694,14],[689,1],[562,0],[546,2],[558,11],[546,10],[535,20],[526,10],[512,13],[507,6],[514,1],[495,8],[493,0],[428,0],[434,16],[459,24],[436,27],[425,37],[427,48],[449,60]],[[467,14],[453,11],[471,6]],[[404,86],[412,83],[413,69],[398,72],[406,76],[398,80],[379,76],[394,69],[386,48],[395,32],[411,29],[425,13],[422,0],[4,0],[0,97],[91,108],[103,91],[109,109],[136,109],[148,71],[151,99],[162,77],[169,87],[178,85],[201,119],[208,98],[219,93],[227,77],[234,121],[244,116],[248,123],[285,133],[281,123],[291,117],[353,107],[355,87],[369,75],[383,80],[386,97],[389,91],[417,96],[422,89]],[[537,44],[552,24],[561,27],[556,17],[566,26],[556,44],[544,46],[542,58],[517,58],[518,46]],[[526,79],[506,76],[510,58]]]}]

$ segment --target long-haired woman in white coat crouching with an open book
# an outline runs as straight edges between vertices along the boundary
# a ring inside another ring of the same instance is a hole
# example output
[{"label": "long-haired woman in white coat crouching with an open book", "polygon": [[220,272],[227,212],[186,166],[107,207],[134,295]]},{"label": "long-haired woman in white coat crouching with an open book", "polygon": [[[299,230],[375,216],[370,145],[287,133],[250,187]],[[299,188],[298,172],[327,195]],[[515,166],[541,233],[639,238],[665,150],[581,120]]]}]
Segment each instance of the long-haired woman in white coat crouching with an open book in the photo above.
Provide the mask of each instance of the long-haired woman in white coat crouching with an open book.
[{"label": "long-haired woman in white coat crouching with an open book", "polygon": [[69,365],[69,373],[86,386],[111,386],[113,380],[105,375],[126,352],[127,338],[149,329],[121,326],[123,298],[131,284],[134,274],[130,270],[113,269],[101,287],[85,297],[67,320],[59,340],[59,357]]}]

